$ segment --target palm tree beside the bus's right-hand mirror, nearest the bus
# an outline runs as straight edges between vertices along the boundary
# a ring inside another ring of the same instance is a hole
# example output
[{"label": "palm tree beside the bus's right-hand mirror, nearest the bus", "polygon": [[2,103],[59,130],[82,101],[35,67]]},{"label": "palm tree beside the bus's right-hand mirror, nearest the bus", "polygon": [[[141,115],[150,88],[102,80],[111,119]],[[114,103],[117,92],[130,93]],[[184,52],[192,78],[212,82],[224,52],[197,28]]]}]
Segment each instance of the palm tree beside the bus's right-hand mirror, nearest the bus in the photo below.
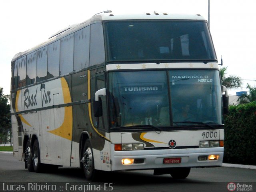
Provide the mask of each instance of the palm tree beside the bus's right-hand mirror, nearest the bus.
[{"label": "palm tree beside the bus's right-hand mirror, nearest the bus", "polygon": [[224,85],[228,89],[241,87],[242,86],[242,79],[239,76],[236,76],[236,75],[230,75],[230,76],[227,77],[226,76],[227,68],[228,67],[220,68],[220,76],[221,76],[222,85]]}]

